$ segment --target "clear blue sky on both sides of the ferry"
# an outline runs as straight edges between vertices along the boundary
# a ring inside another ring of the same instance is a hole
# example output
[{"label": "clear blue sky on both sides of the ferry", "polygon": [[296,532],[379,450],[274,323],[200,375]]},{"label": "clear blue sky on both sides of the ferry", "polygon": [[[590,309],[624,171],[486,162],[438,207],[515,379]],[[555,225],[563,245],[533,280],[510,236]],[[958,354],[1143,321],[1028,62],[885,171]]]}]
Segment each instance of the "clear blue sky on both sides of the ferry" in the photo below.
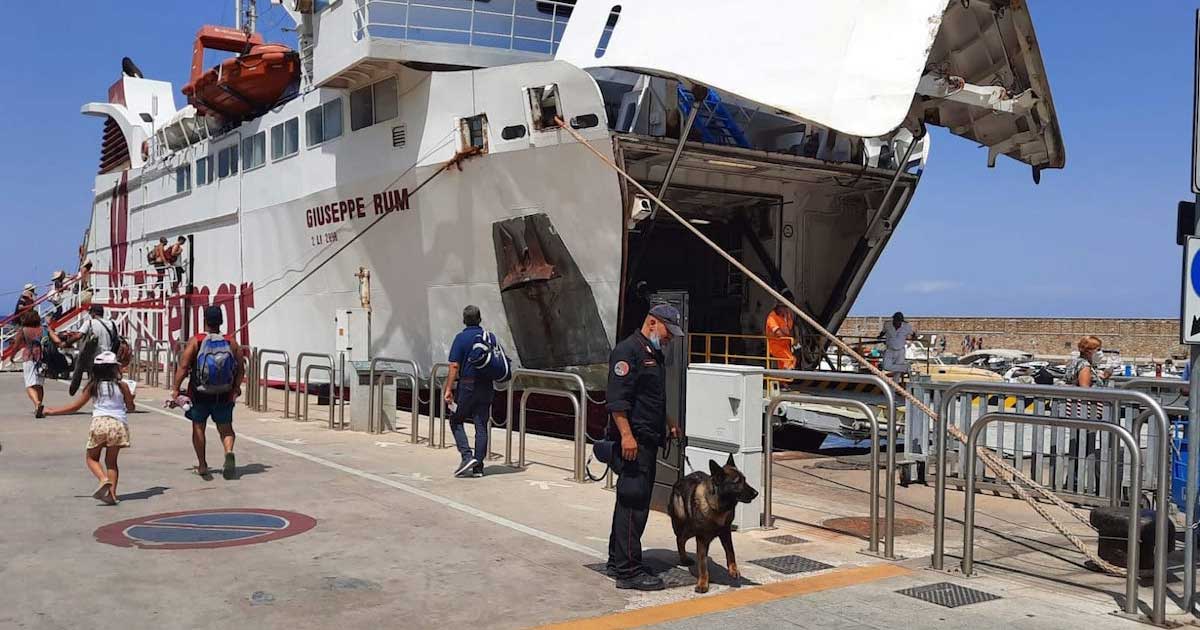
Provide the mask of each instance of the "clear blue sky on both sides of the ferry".
[{"label": "clear blue sky on both sides of the ferry", "polygon": [[[263,0],[268,40],[294,41]],[[907,215],[857,314],[1174,317],[1175,205],[1190,196],[1193,12],[1171,0],[1030,2],[1067,145],[1067,168],[1030,169],[941,130]],[[6,191],[0,301],[53,270],[73,270],[88,224],[102,101],[120,59],[186,80],[204,23],[230,24],[232,0],[10,2],[0,38]],[[40,29],[34,24],[46,25]],[[53,26],[53,31],[49,26]],[[274,28],[272,28],[274,26]],[[43,48],[44,46],[44,48]],[[182,97],[176,95],[176,103]]]}]

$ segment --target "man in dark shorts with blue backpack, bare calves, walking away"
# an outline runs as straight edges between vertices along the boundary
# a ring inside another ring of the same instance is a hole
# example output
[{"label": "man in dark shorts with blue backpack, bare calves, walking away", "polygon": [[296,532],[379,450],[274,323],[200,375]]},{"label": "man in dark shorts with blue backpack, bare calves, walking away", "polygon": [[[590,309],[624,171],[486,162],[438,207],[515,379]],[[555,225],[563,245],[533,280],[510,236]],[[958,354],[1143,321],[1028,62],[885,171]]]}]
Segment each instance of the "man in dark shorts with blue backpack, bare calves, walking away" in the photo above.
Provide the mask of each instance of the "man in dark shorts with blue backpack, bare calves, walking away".
[{"label": "man in dark shorts with blue backpack, bare calves, walking away", "polygon": [[[236,460],[233,455],[233,407],[241,396],[241,347],[232,335],[222,336],[224,314],[220,306],[204,308],[204,332],[188,340],[175,370],[172,400],[184,408],[192,421],[192,448],[196,449],[196,473],[211,479],[205,456],[205,428],[209,418],[217,426],[224,446],[222,476],[233,479]],[[187,396],[180,396],[184,379],[187,379]]]}]

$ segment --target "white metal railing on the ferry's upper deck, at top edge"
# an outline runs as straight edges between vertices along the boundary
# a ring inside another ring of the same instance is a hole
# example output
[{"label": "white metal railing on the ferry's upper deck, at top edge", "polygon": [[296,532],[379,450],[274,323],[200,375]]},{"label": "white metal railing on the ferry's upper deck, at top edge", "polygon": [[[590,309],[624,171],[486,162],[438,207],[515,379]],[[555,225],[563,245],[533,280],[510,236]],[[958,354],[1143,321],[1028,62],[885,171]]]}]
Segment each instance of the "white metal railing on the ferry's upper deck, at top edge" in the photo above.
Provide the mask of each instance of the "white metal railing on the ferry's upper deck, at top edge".
[{"label": "white metal railing on the ferry's upper deck, at top edge", "polygon": [[553,54],[574,2],[512,0],[494,11],[452,0],[365,0],[354,10],[354,40],[383,37]]}]

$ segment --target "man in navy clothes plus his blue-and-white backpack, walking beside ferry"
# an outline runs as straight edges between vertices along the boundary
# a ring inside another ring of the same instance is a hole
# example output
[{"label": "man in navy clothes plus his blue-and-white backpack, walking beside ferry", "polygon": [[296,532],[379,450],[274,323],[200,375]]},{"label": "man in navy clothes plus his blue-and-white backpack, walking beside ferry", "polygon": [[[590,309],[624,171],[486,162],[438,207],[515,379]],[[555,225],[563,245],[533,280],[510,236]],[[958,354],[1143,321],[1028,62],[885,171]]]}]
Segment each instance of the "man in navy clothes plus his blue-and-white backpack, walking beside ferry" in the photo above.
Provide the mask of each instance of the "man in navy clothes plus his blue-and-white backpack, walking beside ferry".
[{"label": "man in navy clothes plus his blue-and-white backpack, walking beside ferry", "polygon": [[[450,409],[450,431],[462,455],[455,476],[484,476],[494,385],[508,380],[511,372],[511,362],[496,335],[484,330],[480,322],[482,316],[478,306],[462,310],[466,328],[450,344],[450,373],[442,392],[446,408]],[[463,427],[468,419],[475,425],[474,452]]]}]

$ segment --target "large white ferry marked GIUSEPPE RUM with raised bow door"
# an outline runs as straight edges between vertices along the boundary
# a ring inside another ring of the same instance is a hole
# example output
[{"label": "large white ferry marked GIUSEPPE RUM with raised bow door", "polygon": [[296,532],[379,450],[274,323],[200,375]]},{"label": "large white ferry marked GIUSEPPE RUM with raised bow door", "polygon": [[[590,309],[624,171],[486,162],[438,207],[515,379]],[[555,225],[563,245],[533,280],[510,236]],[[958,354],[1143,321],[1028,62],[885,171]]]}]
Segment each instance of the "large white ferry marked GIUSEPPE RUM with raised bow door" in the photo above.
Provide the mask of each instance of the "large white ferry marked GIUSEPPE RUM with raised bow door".
[{"label": "large white ferry marked GIUSEPPE RUM with raised bow door", "polygon": [[[162,310],[134,335],[178,341],[218,304],[242,343],[324,353],[370,302],[353,358],[427,373],[474,304],[517,365],[601,389],[650,299],[685,306],[709,353],[773,302],[563,125],[833,330],[912,202],[926,126],[1034,181],[1066,162],[1026,2],[281,6],[296,50],[239,2],[199,30],[182,90],[127,61],[83,106],[103,132],[80,259],[114,308]],[[204,67],[210,49],[234,56]],[[155,296],[148,253],[179,236],[188,277]]]}]

